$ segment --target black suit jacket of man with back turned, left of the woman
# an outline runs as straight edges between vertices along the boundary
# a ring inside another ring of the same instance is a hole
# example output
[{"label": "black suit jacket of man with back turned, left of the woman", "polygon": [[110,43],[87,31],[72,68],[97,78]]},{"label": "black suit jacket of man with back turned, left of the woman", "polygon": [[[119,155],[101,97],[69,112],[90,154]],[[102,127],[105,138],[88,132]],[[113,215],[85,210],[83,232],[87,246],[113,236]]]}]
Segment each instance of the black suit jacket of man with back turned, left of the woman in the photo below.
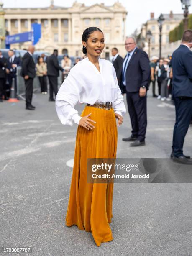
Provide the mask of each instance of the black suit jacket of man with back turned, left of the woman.
[{"label": "black suit jacket of man with back turned, left of the woman", "polygon": [[57,56],[52,54],[51,56],[46,58],[47,63],[47,75],[53,77],[59,77],[59,70],[63,71],[63,69],[59,66],[59,62]]}]

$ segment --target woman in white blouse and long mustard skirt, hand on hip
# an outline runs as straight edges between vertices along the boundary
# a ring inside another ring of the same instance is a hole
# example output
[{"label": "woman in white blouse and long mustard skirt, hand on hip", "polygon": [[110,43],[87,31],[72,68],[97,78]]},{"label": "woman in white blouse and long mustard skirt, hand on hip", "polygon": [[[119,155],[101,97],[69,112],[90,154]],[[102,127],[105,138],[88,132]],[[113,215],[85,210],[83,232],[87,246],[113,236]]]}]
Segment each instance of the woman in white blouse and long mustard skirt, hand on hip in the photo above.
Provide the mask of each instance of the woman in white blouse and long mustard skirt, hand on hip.
[{"label": "woman in white blouse and long mustard skirt, hand on hip", "polygon": [[[61,123],[78,124],[72,183],[66,225],[92,232],[97,246],[113,240],[109,226],[112,215],[113,182],[87,183],[87,158],[115,158],[117,125],[126,112],[113,64],[100,59],[105,46],[102,31],[87,28],[82,35],[83,53],[69,72],[56,96],[56,111]],[[87,103],[81,116],[76,103]],[[113,105],[113,107],[112,107]]]}]

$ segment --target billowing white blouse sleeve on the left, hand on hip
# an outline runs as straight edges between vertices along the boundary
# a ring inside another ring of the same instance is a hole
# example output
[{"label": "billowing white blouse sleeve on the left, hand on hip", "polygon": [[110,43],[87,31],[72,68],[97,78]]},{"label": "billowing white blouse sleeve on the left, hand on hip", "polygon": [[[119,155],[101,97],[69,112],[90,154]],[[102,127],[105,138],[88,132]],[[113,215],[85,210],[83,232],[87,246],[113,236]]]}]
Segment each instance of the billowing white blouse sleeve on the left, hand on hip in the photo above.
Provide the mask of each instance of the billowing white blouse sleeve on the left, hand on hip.
[{"label": "billowing white blouse sleeve on the left, hand on hip", "polygon": [[62,124],[72,126],[72,121],[79,124],[81,117],[78,115],[78,111],[74,109],[74,106],[79,100],[80,92],[81,87],[78,83],[77,67],[74,67],[61,84],[55,99],[56,112]]}]

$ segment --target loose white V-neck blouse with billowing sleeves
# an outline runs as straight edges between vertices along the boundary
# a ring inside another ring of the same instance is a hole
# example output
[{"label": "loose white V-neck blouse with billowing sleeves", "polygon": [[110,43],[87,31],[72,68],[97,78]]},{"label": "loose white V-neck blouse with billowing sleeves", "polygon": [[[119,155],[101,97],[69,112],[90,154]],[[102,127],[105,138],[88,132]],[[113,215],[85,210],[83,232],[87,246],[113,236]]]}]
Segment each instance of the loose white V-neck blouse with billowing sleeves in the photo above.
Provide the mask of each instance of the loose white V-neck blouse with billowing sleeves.
[{"label": "loose white V-neck blouse with billowing sleeves", "polygon": [[79,124],[81,116],[74,106],[80,103],[113,102],[115,113],[126,113],[113,64],[99,59],[100,72],[88,57],[72,67],[56,95],[56,112],[64,125]]}]

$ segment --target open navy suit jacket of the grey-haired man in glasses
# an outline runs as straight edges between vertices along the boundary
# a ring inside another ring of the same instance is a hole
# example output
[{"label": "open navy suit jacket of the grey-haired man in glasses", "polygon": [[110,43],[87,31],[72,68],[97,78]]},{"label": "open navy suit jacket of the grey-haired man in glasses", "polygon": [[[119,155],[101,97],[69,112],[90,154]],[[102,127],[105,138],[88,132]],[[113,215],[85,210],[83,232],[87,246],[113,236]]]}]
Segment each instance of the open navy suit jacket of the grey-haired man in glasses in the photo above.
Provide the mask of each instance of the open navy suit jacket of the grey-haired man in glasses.
[{"label": "open navy suit jacket of the grey-haired man in glasses", "polygon": [[131,56],[125,73],[126,86],[124,86],[122,82],[122,73],[123,72],[121,72],[120,79],[120,89],[122,93],[139,92],[140,87],[143,85],[148,90],[151,77],[151,68],[146,52],[136,48]]}]

